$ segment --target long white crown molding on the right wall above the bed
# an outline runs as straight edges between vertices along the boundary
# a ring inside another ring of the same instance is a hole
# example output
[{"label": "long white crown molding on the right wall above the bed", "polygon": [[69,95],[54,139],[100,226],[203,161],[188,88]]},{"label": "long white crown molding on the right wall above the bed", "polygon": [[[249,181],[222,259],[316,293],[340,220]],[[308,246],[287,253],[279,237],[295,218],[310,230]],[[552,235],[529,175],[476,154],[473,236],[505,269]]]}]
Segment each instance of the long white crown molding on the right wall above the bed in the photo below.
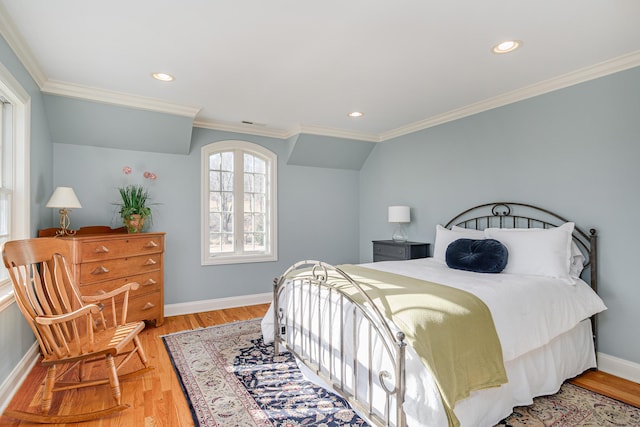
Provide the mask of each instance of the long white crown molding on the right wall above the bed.
[{"label": "long white crown molding on the right wall above the bed", "polygon": [[442,114],[411,123],[407,126],[399,127],[380,134],[381,141],[388,141],[399,136],[414,133],[443,123],[458,120],[494,108],[502,107],[514,102],[522,101],[534,96],[543,95],[548,92],[563,89],[589,80],[604,77],[620,71],[640,66],[640,51],[600,62],[589,67],[566,73],[549,80],[544,80],[521,89],[498,95],[484,101],[476,102],[462,108],[447,111]]}]

